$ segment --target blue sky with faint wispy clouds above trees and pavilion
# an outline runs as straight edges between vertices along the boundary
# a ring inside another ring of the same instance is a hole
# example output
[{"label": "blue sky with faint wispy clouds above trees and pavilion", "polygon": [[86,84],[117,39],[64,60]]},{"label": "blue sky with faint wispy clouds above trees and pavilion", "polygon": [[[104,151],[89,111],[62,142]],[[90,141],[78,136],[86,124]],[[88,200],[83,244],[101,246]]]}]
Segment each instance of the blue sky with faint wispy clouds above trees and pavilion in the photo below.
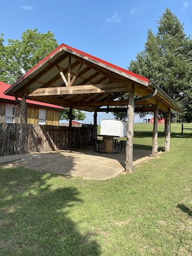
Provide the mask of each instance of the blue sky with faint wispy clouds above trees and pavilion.
[{"label": "blue sky with faint wispy clouds above trees and pavilion", "polygon": [[[156,34],[166,7],[191,36],[192,0],[2,0],[0,33],[6,44],[8,38],[21,39],[28,28],[50,30],[59,45],[65,43],[127,69],[144,50],[149,28]],[[98,123],[106,118],[112,114],[98,114]],[[93,114],[83,122],[93,122]]]}]

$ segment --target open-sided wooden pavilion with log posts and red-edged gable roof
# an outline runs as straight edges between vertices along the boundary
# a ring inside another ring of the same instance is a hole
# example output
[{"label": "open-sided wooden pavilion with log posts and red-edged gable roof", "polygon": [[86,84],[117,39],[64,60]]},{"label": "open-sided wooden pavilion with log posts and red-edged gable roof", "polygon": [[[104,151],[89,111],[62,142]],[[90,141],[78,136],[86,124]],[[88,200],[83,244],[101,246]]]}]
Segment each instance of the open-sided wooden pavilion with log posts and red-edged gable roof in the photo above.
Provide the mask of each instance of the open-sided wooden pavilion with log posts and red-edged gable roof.
[{"label": "open-sided wooden pavilion with log posts and red-edged gable roof", "polygon": [[[129,93],[129,100],[123,94]],[[169,151],[171,109],[182,109],[147,78],[61,44],[16,81],[6,95],[22,98],[22,123],[27,99],[94,112],[127,111],[126,171],[133,171],[134,111],[153,111],[152,156],[158,153],[158,112],[166,113],[165,151]],[[114,109],[114,107],[116,107]],[[70,120],[69,125],[71,125]],[[95,134],[96,136],[96,134]]]}]

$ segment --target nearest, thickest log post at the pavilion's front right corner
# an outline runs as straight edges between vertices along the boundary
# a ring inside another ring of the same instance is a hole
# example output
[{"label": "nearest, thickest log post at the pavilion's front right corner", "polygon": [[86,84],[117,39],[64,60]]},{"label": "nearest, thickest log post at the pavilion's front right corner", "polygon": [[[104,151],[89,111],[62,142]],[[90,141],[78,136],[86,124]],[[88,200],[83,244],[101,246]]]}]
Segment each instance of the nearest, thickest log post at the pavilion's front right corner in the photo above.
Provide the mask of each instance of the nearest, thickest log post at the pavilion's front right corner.
[{"label": "nearest, thickest log post at the pavilion's front right corner", "polygon": [[134,85],[129,92],[129,103],[127,109],[127,143],[126,143],[126,164],[127,172],[133,172],[133,125],[134,125]]}]

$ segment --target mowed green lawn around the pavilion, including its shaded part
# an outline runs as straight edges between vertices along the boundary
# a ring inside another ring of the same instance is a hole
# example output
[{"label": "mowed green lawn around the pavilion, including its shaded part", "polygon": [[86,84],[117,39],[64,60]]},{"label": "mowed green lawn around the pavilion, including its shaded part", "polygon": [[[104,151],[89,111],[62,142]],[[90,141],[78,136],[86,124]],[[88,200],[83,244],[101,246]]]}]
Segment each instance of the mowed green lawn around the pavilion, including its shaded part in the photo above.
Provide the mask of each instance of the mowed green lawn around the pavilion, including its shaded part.
[{"label": "mowed green lawn around the pavilion, including its shaded part", "polygon": [[169,152],[110,180],[1,168],[0,255],[192,255],[192,130],[171,129]]}]

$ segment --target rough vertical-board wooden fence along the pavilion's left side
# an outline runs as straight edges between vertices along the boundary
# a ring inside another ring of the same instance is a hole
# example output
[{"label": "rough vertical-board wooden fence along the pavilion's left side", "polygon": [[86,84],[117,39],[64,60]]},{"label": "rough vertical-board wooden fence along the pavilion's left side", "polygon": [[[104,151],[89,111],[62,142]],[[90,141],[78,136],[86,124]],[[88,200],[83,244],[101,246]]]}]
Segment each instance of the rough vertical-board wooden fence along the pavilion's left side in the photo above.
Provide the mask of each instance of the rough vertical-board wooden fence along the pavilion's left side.
[{"label": "rough vertical-board wooden fence along the pavilion's left side", "polygon": [[82,127],[0,123],[0,156],[87,147],[93,125]]}]

